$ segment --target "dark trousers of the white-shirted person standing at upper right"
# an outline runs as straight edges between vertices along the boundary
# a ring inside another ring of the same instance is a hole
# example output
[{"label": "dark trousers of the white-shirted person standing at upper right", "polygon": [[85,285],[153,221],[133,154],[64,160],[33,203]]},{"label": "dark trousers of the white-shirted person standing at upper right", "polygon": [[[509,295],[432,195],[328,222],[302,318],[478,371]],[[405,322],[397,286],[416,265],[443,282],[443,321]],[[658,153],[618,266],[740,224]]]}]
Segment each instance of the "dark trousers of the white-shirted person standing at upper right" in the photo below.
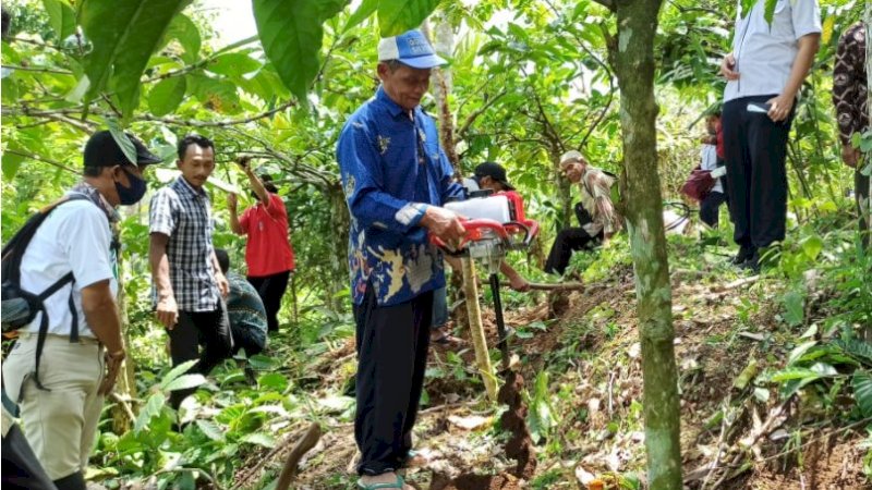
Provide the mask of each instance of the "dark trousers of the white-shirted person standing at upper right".
[{"label": "dark trousers of the white-shirted person standing at upper right", "polygon": [[772,97],[730,100],[722,117],[734,240],[746,247],[766,247],[785,236],[785,159],[794,111],[782,122],[748,111],[749,102],[765,103]]}]

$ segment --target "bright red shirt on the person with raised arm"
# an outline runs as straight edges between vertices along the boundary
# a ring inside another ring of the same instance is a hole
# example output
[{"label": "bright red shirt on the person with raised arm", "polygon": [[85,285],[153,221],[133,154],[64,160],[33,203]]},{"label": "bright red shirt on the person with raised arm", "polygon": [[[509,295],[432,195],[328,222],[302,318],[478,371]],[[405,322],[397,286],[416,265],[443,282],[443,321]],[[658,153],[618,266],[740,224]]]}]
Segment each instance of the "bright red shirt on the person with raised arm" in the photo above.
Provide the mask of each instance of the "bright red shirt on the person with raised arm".
[{"label": "bright red shirt on the person with raised arm", "polygon": [[294,269],[288,211],[279,196],[269,194],[269,206],[257,201],[246,209],[239,224],[249,235],[249,243],[245,244],[249,275],[263,278]]}]

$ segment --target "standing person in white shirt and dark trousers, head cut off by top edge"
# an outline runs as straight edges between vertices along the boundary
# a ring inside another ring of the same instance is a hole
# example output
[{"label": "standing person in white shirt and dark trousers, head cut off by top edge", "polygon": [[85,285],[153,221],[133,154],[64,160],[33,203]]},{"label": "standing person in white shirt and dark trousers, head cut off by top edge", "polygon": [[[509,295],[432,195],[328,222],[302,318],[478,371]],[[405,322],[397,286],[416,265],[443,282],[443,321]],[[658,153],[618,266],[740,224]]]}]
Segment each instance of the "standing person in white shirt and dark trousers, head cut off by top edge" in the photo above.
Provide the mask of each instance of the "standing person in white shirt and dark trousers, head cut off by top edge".
[{"label": "standing person in white shirt and dark trousers, head cut off by top edge", "polygon": [[734,264],[760,269],[764,250],[785,236],[787,138],[796,99],[821,38],[816,0],[778,0],[772,24],[765,3],[738,2],[732,52],[724,58],[724,149],[729,206],[740,249]]}]

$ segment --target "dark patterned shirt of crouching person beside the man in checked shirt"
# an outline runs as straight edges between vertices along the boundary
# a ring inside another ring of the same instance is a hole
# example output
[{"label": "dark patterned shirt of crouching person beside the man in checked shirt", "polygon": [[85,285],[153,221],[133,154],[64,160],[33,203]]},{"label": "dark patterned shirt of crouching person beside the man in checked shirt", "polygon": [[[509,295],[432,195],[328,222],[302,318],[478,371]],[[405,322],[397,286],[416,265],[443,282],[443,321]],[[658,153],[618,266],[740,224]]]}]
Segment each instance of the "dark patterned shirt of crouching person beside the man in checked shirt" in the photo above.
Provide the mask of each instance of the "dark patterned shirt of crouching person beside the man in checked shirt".
[{"label": "dark patterned shirt of crouching person beside the man in checked shirt", "polygon": [[257,354],[266,347],[266,309],[264,302],[249,281],[235,272],[227,273],[230,296],[227,298],[227,315],[233,342],[246,354]]}]

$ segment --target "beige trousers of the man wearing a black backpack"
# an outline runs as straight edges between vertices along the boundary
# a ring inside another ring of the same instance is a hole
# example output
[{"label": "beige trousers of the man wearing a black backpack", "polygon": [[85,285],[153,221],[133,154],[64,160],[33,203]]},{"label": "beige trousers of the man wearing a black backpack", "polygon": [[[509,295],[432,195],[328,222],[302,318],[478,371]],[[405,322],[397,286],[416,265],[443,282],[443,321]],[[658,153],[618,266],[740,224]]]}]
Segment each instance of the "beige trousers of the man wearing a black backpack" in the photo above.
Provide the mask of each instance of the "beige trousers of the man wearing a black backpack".
[{"label": "beige trousers of the man wearing a black backpack", "polygon": [[48,335],[34,381],[36,335],[23,334],[3,363],[7,394],[19,401],[22,429],[52,480],[84,471],[94,448],[102,409],[98,395],[104,377],[104,348],[94,339],[70,343]]}]

